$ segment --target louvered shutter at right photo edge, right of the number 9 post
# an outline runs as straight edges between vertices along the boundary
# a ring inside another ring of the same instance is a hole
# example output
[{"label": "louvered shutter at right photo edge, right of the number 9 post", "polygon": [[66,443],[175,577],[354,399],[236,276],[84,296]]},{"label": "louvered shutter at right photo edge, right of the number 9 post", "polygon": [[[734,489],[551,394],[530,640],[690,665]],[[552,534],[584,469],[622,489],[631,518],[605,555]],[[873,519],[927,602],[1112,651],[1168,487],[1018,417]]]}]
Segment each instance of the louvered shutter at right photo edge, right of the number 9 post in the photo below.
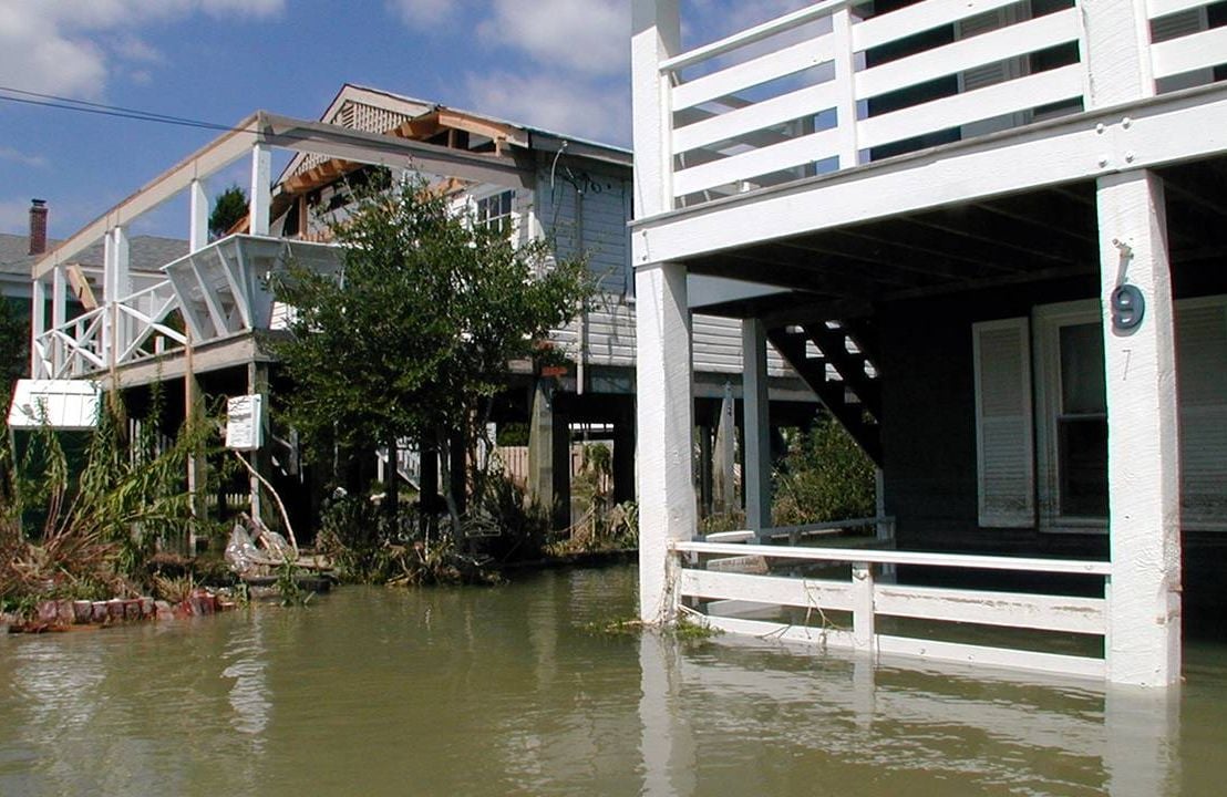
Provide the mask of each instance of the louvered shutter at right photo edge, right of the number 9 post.
[{"label": "louvered shutter at right photo edge, right of the number 9 post", "polygon": [[1227,298],[1177,305],[1182,520],[1227,530]]}]

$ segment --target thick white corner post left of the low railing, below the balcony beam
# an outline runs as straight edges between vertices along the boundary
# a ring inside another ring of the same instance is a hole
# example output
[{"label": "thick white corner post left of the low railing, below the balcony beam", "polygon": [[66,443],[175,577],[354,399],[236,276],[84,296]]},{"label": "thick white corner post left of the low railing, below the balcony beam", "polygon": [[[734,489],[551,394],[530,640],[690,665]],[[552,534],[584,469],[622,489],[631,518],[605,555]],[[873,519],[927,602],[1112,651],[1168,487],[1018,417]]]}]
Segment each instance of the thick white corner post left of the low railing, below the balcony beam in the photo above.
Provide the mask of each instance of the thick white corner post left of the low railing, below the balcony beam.
[{"label": "thick white corner post left of the low railing, below the balcony beam", "polygon": [[694,427],[686,267],[653,264],[636,273],[639,466],[639,617],[676,612],[670,542],[697,527]]}]

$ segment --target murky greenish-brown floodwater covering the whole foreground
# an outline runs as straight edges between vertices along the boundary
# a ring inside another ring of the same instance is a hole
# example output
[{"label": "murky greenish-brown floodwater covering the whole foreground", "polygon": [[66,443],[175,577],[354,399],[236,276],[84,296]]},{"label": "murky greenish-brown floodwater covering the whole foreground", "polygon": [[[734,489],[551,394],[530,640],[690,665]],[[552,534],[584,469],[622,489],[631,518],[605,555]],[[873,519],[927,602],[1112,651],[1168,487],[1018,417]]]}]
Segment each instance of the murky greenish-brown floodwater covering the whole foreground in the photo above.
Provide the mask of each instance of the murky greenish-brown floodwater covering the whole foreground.
[{"label": "murky greenish-brown floodwater covering the whole foreground", "polygon": [[627,568],[0,638],[0,795],[1220,795],[1227,647],[1171,699],[610,638]]}]

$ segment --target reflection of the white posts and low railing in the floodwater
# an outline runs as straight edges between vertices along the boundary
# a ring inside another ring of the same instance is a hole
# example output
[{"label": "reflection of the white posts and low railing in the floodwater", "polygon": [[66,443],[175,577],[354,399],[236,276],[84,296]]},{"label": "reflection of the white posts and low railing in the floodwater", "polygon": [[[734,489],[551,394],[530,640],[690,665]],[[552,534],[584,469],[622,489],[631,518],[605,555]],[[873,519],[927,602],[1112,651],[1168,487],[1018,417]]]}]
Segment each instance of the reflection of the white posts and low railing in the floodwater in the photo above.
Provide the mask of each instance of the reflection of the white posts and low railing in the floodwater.
[{"label": "reflection of the white posts and low railing in the floodwater", "polygon": [[1182,793],[1179,690],[731,638],[680,652],[645,636],[639,666],[643,795]]}]

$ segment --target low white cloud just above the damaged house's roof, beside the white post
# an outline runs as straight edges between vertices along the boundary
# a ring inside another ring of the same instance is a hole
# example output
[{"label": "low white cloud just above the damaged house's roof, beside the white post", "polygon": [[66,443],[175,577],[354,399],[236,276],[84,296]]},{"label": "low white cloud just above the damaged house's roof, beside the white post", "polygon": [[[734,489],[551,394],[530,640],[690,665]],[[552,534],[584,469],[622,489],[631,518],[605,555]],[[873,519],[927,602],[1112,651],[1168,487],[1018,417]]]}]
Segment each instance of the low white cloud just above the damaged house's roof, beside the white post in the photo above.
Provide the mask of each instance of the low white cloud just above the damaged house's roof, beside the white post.
[{"label": "low white cloud just above the damaged house's roof, beside the white post", "polygon": [[470,75],[466,90],[479,113],[607,143],[627,145],[631,139],[629,87],[621,82]]}]

